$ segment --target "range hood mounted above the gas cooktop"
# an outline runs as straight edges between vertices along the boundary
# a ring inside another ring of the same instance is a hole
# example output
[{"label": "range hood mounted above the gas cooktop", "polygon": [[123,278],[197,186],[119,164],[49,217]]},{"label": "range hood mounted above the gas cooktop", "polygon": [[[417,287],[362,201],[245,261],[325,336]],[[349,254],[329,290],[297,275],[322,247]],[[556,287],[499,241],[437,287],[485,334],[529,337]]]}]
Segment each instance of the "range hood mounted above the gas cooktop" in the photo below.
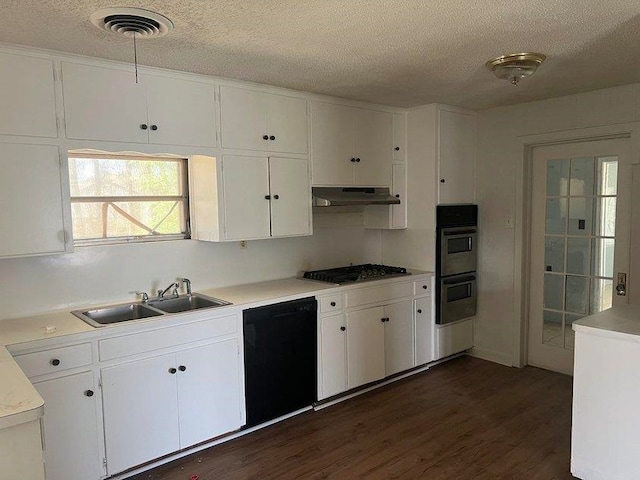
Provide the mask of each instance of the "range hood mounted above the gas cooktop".
[{"label": "range hood mounted above the gas cooktop", "polygon": [[400,204],[389,187],[313,187],[311,191],[314,207]]}]

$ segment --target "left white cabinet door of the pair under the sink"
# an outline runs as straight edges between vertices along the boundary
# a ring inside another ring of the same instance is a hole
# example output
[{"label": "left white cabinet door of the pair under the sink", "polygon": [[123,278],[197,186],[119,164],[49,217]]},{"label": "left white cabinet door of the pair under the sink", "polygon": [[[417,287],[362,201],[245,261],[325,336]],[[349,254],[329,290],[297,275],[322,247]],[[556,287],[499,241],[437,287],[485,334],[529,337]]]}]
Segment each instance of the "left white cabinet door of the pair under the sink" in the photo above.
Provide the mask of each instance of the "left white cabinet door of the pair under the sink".
[{"label": "left white cabinet door of the pair under the sink", "polygon": [[109,475],[180,449],[174,368],[171,354],[102,370]]}]

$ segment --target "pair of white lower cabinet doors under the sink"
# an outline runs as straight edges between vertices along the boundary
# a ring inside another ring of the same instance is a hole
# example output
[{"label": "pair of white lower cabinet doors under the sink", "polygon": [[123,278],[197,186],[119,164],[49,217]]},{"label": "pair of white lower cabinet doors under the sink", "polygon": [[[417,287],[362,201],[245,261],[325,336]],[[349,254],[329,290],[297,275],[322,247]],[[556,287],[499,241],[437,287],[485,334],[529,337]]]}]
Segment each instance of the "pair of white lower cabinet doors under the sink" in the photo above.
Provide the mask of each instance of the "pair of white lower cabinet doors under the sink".
[{"label": "pair of white lower cabinet doors under the sink", "polygon": [[236,339],[102,369],[109,475],[241,426]]}]

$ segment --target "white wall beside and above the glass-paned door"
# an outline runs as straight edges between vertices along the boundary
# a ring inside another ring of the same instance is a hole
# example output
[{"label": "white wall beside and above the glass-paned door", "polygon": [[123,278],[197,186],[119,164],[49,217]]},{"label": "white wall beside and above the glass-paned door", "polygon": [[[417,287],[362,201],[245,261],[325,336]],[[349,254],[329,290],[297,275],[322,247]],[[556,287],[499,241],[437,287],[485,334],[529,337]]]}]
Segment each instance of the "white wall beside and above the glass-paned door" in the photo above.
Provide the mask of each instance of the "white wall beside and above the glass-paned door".
[{"label": "white wall beside and above the glass-paned door", "polygon": [[[511,88],[505,85],[505,88]],[[525,82],[514,88],[526,88]],[[475,353],[518,365],[522,322],[522,200],[525,145],[638,129],[640,84],[479,112],[476,198],[479,284]],[[625,125],[626,124],[626,125]],[[638,136],[632,135],[634,162]],[[514,219],[515,229],[506,227]],[[638,280],[640,281],[640,280]]]}]

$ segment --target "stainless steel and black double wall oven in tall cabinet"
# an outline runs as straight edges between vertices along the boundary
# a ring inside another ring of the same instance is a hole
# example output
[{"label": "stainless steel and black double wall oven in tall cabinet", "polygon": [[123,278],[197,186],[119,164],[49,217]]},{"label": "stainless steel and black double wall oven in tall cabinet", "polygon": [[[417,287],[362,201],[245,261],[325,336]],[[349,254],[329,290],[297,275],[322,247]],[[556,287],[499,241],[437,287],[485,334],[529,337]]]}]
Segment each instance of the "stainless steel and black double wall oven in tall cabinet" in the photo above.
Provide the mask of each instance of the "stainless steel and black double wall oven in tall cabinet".
[{"label": "stainless steel and black double wall oven in tall cabinet", "polygon": [[436,323],[476,313],[478,206],[438,205],[436,210]]}]

